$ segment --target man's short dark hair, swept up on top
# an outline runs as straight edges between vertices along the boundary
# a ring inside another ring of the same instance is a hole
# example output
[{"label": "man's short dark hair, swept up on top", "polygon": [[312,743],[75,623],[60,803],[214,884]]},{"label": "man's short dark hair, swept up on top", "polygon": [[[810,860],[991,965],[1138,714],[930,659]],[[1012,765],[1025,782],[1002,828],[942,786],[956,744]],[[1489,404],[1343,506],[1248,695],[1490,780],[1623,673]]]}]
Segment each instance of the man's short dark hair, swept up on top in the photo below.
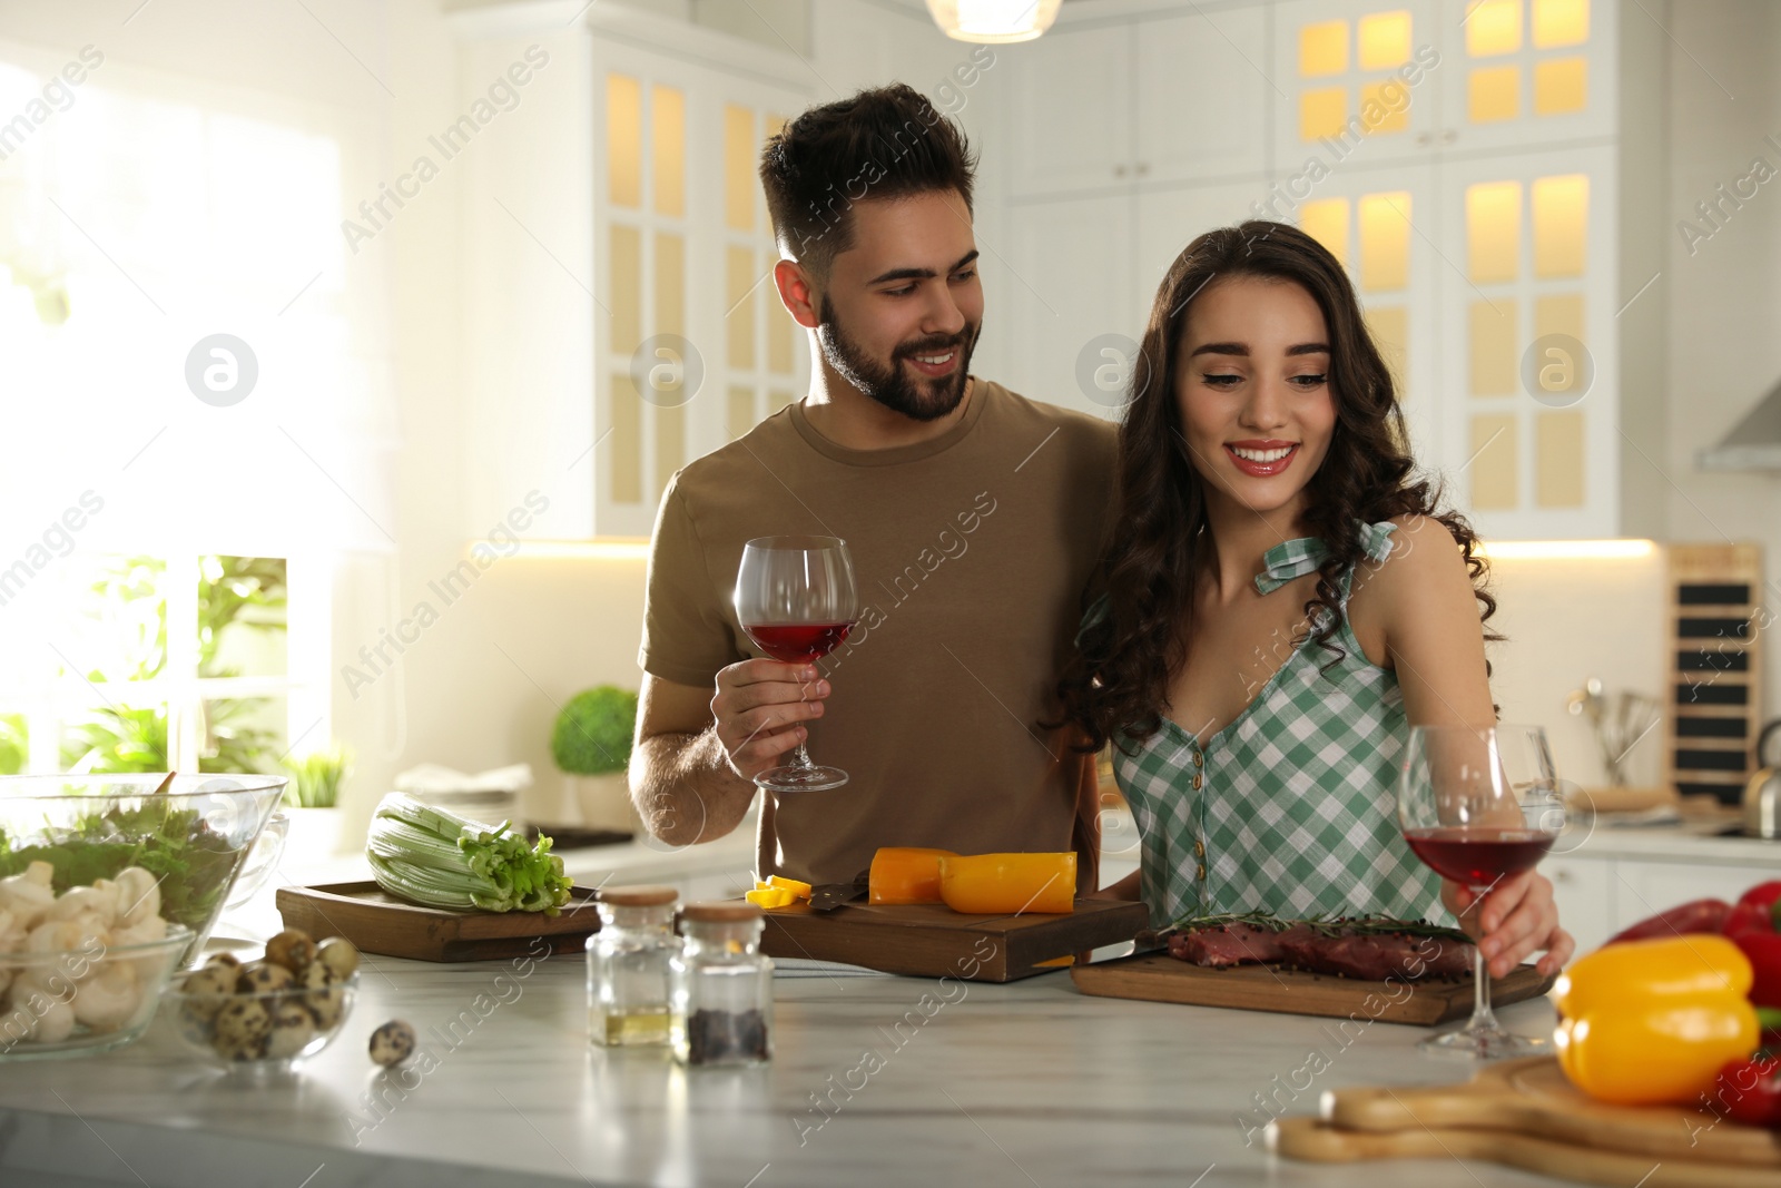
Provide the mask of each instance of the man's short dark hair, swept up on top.
[{"label": "man's short dark hair, swept up on top", "polygon": [[971,208],[976,153],[964,130],[901,82],[812,107],[760,151],[780,249],[828,274],[853,246],[853,203],[958,191]]}]

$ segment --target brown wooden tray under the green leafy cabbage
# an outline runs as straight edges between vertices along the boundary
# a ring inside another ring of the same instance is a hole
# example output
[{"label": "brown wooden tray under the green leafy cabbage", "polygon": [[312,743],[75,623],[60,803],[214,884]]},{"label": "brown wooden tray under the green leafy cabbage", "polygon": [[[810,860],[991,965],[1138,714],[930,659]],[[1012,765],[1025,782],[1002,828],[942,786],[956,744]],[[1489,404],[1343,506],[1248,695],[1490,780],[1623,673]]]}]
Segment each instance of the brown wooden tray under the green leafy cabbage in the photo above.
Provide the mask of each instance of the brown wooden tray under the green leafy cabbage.
[{"label": "brown wooden tray under the green leafy cabbage", "polygon": [[541,912],[447,912],[395,899],[378,883],[280,887],[278,914],[285,928],[301,928],[317,940],[346,937],[362,953],[411,956],[422,962],[486,962],[538,956],[538,940],[552,953],[579,949],[600,930],[595,892],[572,887],[559,915]]}]

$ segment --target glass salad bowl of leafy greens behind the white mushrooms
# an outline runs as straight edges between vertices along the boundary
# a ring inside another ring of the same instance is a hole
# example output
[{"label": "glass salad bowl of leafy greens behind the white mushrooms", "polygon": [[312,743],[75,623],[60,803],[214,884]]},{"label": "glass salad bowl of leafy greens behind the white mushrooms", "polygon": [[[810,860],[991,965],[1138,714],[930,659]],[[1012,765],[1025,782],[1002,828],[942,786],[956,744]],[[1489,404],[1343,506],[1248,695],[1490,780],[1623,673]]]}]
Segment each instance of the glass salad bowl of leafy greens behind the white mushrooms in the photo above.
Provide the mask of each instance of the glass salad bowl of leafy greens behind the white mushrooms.
[{"label": "glass salad bowl of leafy greens behind the white mushrooms", "polygon": [[0,908],[5,880],[34,864],[48,864],[55,896],[139,867],[155,878],[169,930],[185,939],[176,965],[194,964],[223,908],[244,903],[278,866],[285,784],[269,775],[0,777]]}]

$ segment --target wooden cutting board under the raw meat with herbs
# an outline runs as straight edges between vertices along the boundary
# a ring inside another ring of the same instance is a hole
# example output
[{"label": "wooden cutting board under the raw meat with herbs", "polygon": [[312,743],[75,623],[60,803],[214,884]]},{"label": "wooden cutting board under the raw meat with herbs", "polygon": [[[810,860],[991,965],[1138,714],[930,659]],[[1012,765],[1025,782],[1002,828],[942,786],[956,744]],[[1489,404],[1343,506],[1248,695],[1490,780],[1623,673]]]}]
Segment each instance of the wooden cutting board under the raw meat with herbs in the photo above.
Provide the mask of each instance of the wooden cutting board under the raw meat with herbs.
[{"label": "wooden cutting board under the raw meat with herbs", "polygon": [[[1284,1015],[1332,1019],[1377,1019],[1434,1026],[1471,1013],[1471,978],[1464,981],[1355,981],[1332,974],[1307,974],[1273,965],[1204,969],[1168,953],[1142,953],[1094,965],[1078,965],[1070,980],[1083,994],[1136,997],[1188,1006],[1236,1006]],[[1523,965],[1507,978],[1491,980],[1491,1003],[1507,1006],[1546,994],[1557,974],[1542,978]]]}]

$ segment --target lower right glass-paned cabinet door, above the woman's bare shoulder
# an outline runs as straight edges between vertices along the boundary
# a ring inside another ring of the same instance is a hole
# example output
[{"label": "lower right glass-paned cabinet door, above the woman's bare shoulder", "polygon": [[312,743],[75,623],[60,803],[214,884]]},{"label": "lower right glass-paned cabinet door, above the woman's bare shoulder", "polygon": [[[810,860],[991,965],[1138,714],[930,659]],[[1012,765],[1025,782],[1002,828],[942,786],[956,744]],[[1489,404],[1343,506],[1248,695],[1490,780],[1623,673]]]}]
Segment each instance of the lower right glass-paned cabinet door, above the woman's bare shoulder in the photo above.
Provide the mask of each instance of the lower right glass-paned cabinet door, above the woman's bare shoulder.
[{"label": "lower right glass-paned cabinet door, above the woman's bare shoulder", "polygon": [[1619,536],[1614,150],[1469,157],[1437,178],[1450,497],[1485,540]]}]

